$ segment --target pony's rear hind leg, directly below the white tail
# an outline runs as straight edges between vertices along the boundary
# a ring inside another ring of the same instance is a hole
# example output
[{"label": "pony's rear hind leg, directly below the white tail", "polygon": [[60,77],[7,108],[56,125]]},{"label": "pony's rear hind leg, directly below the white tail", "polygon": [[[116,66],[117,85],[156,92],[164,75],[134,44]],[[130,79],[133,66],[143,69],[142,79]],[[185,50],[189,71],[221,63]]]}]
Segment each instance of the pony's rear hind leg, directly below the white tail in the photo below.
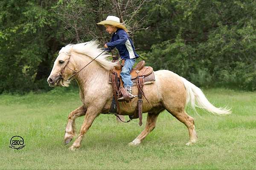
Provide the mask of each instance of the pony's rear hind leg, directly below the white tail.
[{"label": "pony's rear hind leg, directly below the white tail", "polygon": [[175,116],[180,122],[182,122],[188,128],[188,130],[189,130],[189,142],[186,143],[186,145],[189,146],[189,145],[195,143],[198,139],[198,136],[195,132],[194,118],[189,116],[183,108],[182,109],[172,109],[172,110],[166,108],[166,110],[169,113],[171,113],[172,116]]}]

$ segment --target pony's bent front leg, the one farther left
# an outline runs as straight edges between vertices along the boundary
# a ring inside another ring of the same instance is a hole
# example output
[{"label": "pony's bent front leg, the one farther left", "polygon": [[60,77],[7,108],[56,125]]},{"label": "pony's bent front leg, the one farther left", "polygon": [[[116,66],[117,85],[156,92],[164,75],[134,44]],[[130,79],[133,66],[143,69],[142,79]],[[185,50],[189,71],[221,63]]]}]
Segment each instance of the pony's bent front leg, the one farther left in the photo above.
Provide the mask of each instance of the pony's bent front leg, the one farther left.
[{"label": "pony's bent front leg, the one farther left", "polygon": [[68,144],[72,140],[73,136],[75,136],[75,120],[79,116],[84,116],[86,110],[86,107],[82,105],[68,115],[67,127],[64,136],[65,144]]}]

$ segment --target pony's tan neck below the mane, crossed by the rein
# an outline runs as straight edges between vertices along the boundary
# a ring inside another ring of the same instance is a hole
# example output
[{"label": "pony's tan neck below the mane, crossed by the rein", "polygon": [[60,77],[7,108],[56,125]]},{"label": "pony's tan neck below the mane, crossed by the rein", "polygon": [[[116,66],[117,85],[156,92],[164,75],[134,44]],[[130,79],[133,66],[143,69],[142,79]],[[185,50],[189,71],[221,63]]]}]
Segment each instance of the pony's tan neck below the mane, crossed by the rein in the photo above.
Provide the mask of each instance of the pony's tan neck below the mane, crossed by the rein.
[{"label": "pony's tan neck below the mane, crossed by the rein", "polygon": [[[76,71],[80,71],[85,65],[91,62],[91,57],[83,56],[83,54],[77,54],[74,61],[74,68]],[[81,90],[87,88],[90,82],[97,83],[96,81],[108,80],[109,70],[100,66],[95,60],[81,70],[75,77]],[[100,83],[100,82],[99,82]]]}]

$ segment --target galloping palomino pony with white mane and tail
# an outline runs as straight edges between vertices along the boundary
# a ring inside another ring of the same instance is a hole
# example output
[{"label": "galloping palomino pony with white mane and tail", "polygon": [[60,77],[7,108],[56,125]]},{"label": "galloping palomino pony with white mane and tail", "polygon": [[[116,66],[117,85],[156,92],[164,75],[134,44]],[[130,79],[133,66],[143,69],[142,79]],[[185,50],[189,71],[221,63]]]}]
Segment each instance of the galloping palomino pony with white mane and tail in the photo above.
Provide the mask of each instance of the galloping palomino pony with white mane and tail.
[{"label": "galloping palomino pony with white mane and tail", "polygon": [[[96,41],[67,45],[61,48],[47,82],[51,87],[57,85],[68,86],[69,82],[65,80],[69,79],[102,52],[102,49],[98,48]],[[74,76],[80,88],[80,99],[83,104],[68,116],[64,136],[65,144],[69,143],[75,136],[75,119],[79,116],[85,115],[85,117],[79,136],[70,147],[71,150],[76,150],[81,146],[84,134],[90,128],[94,119],[100,113],[108,113],[111,107],[113,91],[108,79],[110,71],[116,63],[109,61],[107,57],[109,57],[107,53],[102,53]],[[195,132],[194,119],[185,111],[189,102],[193,109],[199,107],[221,115],[231,113],[230,110],[225,108],[213,106],[206,99],[200,88],[172,71],[154,71],[154,75],[155,82],[144,85],[143,88],[145,96],[151,104],[149,105],[148,102],[143,103],[143,113],[148,112],[145,129],[129,145],[140,144],[148,133],[154,129],[157,116],[165,109],[188,128],[190,139],[186,145],[195,143],[198,138]],[[137,86],[133,87],[133,92],[137,94]],[[133,115],[137,107],[137,98],[132,99],[131,105],[129,103],[125,104],[125,102],[123,104],[120,103],[121,114]]]}]

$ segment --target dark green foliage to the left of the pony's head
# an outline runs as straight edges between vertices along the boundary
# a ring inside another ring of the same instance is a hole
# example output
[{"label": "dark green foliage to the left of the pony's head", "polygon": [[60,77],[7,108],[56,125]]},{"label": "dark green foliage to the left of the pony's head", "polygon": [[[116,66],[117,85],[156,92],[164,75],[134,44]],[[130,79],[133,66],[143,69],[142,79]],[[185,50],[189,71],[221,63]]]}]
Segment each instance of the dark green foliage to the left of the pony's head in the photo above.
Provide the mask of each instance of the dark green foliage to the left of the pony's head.
[{"label": "dark green foliage to the left of the pony's head", "polygon": [[[0,93],[29,91],[46,78],[58,48],[58,20],[54,1],[2,0],[0,2]],[[55,42],[55,44],[54,44]],[[40,71],[44,72],[43,76]],[[39,77],[39,79],[37,78]]]}]

